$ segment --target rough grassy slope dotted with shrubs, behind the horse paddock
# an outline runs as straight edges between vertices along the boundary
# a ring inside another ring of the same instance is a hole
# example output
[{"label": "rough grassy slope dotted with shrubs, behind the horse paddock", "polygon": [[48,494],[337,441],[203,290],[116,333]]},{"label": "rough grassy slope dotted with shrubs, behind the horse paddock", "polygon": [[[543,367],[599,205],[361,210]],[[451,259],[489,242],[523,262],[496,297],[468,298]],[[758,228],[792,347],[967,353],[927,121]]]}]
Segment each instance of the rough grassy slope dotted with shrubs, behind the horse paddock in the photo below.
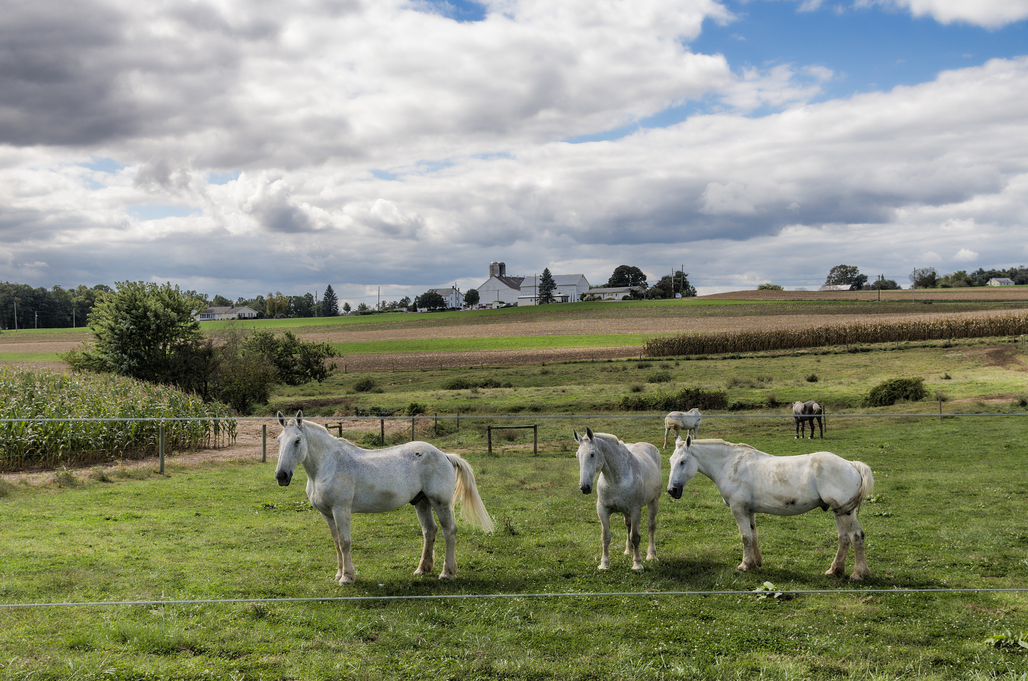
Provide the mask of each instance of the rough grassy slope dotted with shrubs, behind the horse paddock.
[{"label": "rough grassy slope dotted with shrubs, behind the horse paddock", "polygon": [[[273,413],[285,405],[302,405],[305,399],[317,399],[320,406],[307,413],[353,414],[355,406],[394,410],[418,402],[427,406],[428,414],[584,414],[616,409],[633,387],[646,393],[698,386],[727,390],[729,402],[755,408],[769,402],[816,399],[829,410],[851,411],[860,407],[873,386],[886,379],[923,377],[932,397],[928,402],[902,405],[901,410],[935,410],[938,405],[932,402],[937,393],[952,400],[944,404],[948,413],[993,410],[995,405],[957,400],[1028,396],[1022,363],[1025,353],[1018,348],[1006,339],[985,338],[900,344],[900,350],[885,344],[854,348],[854,352],[821,349],[796,354],[711,356],[706,360],[645,358],[545,366],[337,371],[321,385],[281,389],[269,407]],[[816,382],[807,380],[812,375]],[[944,378],[947,375],[950,378]],[[356,392],[358,382],[367,378],[375,382],[377,392]],[[514,387],[447,390],[446,385],[455,379],[494,379]],[[338,401],[333,403],[333,398]],[[870,409],[889,410],[895,411],[885,407]]]}]

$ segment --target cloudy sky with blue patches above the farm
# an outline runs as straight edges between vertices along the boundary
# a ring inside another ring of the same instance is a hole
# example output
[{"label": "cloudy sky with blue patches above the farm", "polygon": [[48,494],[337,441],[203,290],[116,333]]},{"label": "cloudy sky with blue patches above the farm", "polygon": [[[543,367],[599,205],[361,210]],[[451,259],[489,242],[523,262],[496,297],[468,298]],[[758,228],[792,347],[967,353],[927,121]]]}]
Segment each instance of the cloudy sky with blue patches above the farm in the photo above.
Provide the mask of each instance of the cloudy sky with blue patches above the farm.
[{"label": "cloudy sky with blue patches above the farm", "polygon": [[0,2],[0,279],[1028,263],[1028,0]]}]

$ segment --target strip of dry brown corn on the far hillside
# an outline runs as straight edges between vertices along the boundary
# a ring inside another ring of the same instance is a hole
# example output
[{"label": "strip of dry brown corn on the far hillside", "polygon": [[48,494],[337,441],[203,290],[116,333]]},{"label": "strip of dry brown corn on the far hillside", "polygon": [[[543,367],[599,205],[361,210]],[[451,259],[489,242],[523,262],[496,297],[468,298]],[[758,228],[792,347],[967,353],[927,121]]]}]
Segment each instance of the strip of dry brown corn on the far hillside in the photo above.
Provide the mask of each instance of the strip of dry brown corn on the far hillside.
[{"label": "strip of dry brown corn on the far hillside", "polygon": [[1028,315],[1015,313],[989,317],[961,316],[923,321],[858,322],[799,329],[684,334],[653,338],[647,342],[644,352],[651,357],[709,355],[860,343],[1011,336],[1022,333],[1028,333]]}]

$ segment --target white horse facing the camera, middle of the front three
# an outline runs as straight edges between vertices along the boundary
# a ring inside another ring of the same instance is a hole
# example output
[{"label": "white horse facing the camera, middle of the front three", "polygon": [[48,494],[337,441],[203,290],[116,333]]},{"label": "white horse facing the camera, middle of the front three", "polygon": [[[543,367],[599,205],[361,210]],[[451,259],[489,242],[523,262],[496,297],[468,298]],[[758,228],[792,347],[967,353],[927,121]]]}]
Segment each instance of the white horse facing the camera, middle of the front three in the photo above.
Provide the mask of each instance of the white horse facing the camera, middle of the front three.
[{"label": "white horse facing the camera, middle of the front three", "polygon": [[579,489],[582,494],[592,492],[592,481],[596,481],[596,514],[603,527],[603,558],[599,569],[611,567],[611,513],[624,513],[625,554],[632,555],[632,570],[641,570],[639,559],[639,525],[642,519],[642,507],[650,514],[650,545],[647,547],[646,560],[657,558],[657,545],[654,534],[657,531],[657,506],[660,503],[660,491],[663,485],[660,474],[660,450],[649,442],[625,444],[616,436],[608,433],[593,433],[591,428],[585,429],[585,436],[575,431],[575,439],[579,449],[576,456],[579,460]]}]

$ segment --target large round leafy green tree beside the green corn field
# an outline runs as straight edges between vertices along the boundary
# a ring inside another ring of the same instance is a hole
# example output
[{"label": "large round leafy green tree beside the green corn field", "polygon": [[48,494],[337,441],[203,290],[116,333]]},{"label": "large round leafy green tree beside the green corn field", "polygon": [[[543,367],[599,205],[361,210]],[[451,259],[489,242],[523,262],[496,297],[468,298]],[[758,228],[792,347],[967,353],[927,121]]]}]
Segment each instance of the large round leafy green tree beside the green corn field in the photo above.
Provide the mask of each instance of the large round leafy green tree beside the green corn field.
[{"label": "large round leafy green tree beside the green corn field", "polygon": [[162,381],[176,352],[200,339],[199,302],[178,286],[118,282],[89,314],[93,348],[66,356],[77,368]]}]

